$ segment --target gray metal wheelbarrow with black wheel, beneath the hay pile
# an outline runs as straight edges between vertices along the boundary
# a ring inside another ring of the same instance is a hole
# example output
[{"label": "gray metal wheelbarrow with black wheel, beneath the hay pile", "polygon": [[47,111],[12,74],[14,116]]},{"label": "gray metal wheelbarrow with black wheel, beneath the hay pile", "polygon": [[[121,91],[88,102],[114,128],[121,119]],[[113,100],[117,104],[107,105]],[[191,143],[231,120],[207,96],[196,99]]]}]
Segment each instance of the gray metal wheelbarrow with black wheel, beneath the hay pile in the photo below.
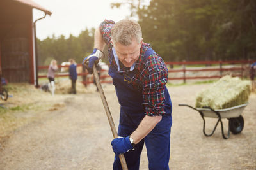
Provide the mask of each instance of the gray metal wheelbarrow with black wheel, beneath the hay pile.
[{"label": "gray metal wheelbarrow with black wheel, beneath the hay pile", "polygon": [[[188,106],[189,108],[192,108],[193,110],[196,110],[200,113],[203,121],[204,121],[204,128],[203,132],[205,136],[212,136],[214,134],[217,125],[219,122],[221,123],[221,133],[224,139],[228,139],[230,136],[230,131],[232,134],[239,134],[243,131],[244,128],[244,118],[241,115],[244,108],[247,106],[248,103],[240,104],[231,108],[225,108],[225,109],[212,109],[209,106],[203,107],[203,108],[194,108],[192,106],[189,106],[188,104],[179,104],[179,106]],[[214,129],[212,130],[211,134],[207,134],[205,132],[205,118],[204,117],[212,117],[212,118],[218,118],[218,121],[216,122],[216,125],[214,126]],[[223,122],[221,118],[227,118],[228,119],[228,132],[227,136],[224,134],[223,131]]]}]

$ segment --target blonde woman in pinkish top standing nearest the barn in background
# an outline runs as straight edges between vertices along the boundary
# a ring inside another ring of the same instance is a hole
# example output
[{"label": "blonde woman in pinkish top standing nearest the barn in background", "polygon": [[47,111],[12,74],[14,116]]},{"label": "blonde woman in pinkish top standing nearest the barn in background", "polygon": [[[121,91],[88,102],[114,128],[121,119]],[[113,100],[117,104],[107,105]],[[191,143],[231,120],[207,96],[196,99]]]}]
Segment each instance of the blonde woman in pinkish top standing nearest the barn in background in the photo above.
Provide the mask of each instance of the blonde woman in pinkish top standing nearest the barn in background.
[{"label": "blonde woman in pinkish top standing nearest the barn in background", "polygon": [[56,71],[58,71],[57,61],[52,60],[50,66],[48,68],[48,73],[47,73],[47,78],[49,79],[48,87],[52,92],[52,96],[54,96],[54,92],[55,92],[54,78],[55,78]]}]

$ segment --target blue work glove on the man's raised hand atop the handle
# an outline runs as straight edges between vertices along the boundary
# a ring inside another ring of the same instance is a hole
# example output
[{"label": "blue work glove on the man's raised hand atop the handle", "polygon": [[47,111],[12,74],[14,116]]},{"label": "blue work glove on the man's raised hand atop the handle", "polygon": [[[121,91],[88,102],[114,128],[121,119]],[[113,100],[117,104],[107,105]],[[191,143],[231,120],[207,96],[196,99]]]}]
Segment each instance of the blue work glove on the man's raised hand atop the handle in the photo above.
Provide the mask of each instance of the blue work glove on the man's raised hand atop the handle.
[{"label": "blue work glove on the man's raised hand atop the handle", "polygon": [[104,57],[104,53],[97,48],[93,49],[93,52],[88,57],[85,57],[82,64],[86,67],[90,74],[93,73],[93,65],[98,64],[99,60]]}]

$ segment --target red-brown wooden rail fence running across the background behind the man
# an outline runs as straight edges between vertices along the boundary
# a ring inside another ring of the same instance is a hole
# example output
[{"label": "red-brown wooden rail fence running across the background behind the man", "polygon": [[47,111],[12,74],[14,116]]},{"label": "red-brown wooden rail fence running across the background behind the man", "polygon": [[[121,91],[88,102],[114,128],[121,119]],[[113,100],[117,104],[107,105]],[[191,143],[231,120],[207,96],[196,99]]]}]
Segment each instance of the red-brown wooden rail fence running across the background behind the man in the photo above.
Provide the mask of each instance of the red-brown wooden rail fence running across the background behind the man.
[{"label": "red-brown wooden rail fence running across the background behind the man", "polygon": [[[240,61],[183,61],[183,62],[165,62],[169,68],[169,81],[181,80],[186,83],[187,80],[196,79],[217,79],[231,74],[232,76],[239,76],[241,78],[248,77],[248,69],[250,64],[256,62],[256,60],[240,60]],[[48,69],[49,66],[39,66],[39,71]],[[69,66],[58,66],[69,67]],[[77,67],[82,67],[81,64],[77,64]],[[77,76],[81,76],[82,83],[87,85],[93,83],[92,76],[82,69],[81,73],[77,73]],[[102,70],[100,76],[101,83],[112,83],[108,70]],[[210,74],[211,73],[211,74]],[[58,73],[56,77],[68,77],[68,73]],[[40,74],[38,78],[47,78],[47,74]],[[106,80],[109,79],[109,80]]]}]

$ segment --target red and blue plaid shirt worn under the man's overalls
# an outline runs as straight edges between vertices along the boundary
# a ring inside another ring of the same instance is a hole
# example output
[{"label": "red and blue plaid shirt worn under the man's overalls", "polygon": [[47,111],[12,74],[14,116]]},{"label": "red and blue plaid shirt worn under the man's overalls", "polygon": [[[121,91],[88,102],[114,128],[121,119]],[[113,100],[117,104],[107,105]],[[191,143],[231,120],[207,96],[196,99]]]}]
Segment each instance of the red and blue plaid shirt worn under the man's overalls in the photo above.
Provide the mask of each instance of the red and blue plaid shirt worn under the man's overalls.
[{"label": "red and blue plaid shirt worn under the man's overalls", "polygon": [[[112,20],[104,20],[100,24],[100,32],[103,39],[108,45],[108,59],[117,71],[117,64],[113,57],[111,41],[111,29],[115,22]],[[134,89],[138,89],[143,95],[143,106],[145,108],[146,115],[157,116],[164,115],[164,88],[168,81],[168,69],[166,68],[164,61],[157,53],[150,55],[147,59],[143,60],[145,51],[150,48],[147,43],[143,43],[140,49],[140,56],[135,62],[134,69],[138,71],[132,77],[132,86]],[[120,71],[118,73],[128,73],[130,68],[125,67],[120,62]]]}]

